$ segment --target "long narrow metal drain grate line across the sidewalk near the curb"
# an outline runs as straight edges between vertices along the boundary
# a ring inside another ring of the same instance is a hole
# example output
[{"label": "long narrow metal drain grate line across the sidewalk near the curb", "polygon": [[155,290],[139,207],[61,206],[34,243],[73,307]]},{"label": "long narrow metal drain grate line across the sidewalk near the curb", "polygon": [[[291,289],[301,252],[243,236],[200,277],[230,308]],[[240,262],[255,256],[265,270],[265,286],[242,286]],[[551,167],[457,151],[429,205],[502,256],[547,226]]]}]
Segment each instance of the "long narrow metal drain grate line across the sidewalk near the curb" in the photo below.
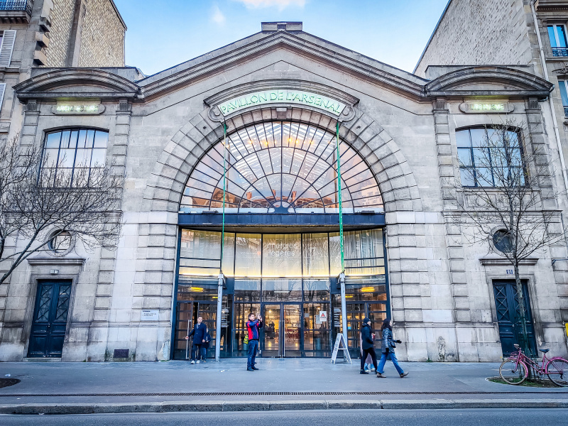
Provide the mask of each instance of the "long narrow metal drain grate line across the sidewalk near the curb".
[{"label": "long narrow metal drain grate line across the sidewalk near the curb", "polygon": [[[357,395],[526,395],[543,393],[564,393],[551,391],[525,391],[525,392],[165,392],[165,393],[10,393],[1,394],[0,397],[104,397],[104,396],[357,396]],[[568,392],[567,392],[568,393]]]}]

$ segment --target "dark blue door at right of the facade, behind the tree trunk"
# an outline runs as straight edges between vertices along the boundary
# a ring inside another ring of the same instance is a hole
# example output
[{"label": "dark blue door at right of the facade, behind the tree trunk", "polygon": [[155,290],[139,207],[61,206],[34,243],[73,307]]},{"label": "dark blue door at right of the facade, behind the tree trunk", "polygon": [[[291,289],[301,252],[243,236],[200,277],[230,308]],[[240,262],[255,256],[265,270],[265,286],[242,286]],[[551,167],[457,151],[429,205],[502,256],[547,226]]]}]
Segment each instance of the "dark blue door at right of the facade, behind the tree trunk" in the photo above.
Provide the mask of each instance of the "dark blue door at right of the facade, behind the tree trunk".
[{"label": "dark blue door at right of the facade, behind the tree trunk", "polygon": [[[520,312],[515,280],[493,281],[493,293],[495,295],[501,348],[503,349],[503,355],[509,356],[511,352],[515,351],[513,344],[520,344],[519,337],[522,336],[522,324],[518,322]],[[528,344],[534,352],[536,349],[535,327],[532,324],[530,300],[525,280],[523,280],[523,296],[525,297],[525,324],[529,339]]]}]

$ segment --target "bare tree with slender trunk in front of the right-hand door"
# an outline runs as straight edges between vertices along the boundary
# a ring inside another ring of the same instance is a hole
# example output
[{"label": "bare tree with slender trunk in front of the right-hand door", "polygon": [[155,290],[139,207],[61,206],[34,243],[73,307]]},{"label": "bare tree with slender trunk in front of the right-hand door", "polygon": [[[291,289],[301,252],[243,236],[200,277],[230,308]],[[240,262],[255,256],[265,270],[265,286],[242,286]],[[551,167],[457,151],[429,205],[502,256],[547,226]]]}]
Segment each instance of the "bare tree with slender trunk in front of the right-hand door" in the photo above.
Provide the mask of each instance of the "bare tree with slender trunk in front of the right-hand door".
[{"label": "bare tree with slender trunk in front of the right-hand door", "polygon": [[550,159],[544,148],[532,144],[530,135],[528,126],[514,119],[478,129],[471,147],[458,148],[461,182],[449,183],[457,207],[454,223],[463,227],[466,239],[473,244],[493,240],[489,250],[513,266],[525,344],[519,265],[533,253],[564,242],[565,235],[556,207],[564,191],[555,189]]}]

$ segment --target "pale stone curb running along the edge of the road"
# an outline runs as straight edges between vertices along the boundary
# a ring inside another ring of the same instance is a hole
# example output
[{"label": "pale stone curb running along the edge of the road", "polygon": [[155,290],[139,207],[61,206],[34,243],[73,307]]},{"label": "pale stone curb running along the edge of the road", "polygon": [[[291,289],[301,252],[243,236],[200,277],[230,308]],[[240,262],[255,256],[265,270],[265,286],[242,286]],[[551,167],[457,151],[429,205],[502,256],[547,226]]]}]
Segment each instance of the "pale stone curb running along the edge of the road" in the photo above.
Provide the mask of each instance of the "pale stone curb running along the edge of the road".
[{"label": "pale stone curb running along the edge of the road", "polygon": [[223,401],[218,403],[2,404],[0,414],[109,414],[234,412],[282,410],[432,410],[463,408],[568,408],[568,400],[288,400],[278,402]]}]

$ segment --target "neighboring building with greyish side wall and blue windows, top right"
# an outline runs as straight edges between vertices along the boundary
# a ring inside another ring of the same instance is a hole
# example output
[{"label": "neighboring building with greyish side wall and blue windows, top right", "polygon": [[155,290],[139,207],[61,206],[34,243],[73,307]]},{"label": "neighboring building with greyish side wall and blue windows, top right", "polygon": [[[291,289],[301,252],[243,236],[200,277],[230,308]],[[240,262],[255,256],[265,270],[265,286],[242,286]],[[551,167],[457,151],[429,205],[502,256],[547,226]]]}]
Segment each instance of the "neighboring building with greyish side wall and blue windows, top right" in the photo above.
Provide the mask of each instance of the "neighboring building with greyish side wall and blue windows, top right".
[{"label": "neighboring building with greyish side wall and blue windows, top right", "polygon": [[421,77],[435,78],[440,65],[518,65],[554,84],[545,114],[554,111],[547,117],[550,146],[562,146],[558,169],[564,189],[568,189],[567,23],[568,0],[449,0],[414,70]]}]

